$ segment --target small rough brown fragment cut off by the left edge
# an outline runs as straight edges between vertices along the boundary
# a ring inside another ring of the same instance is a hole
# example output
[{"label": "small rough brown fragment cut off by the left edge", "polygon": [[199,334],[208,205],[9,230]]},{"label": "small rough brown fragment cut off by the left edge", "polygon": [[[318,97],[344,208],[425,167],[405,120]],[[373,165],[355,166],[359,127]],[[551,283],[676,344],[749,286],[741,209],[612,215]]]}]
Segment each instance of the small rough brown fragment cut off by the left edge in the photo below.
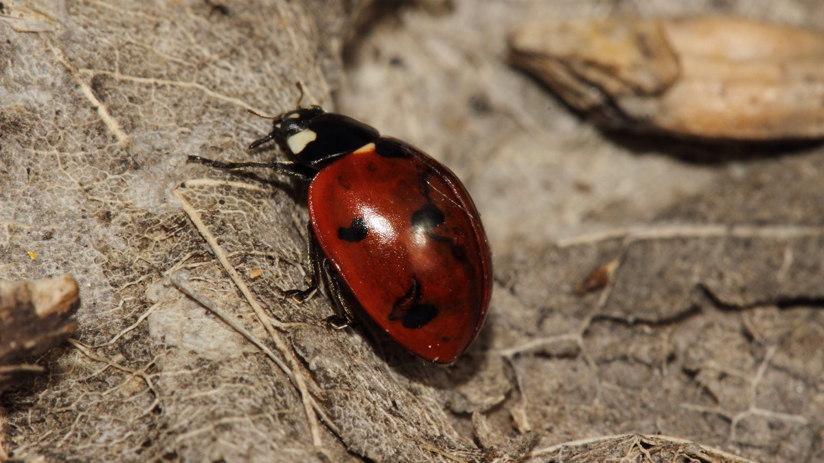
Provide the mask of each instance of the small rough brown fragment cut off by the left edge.
[{"label": "small rough brown fragment cut off by the left edge", "polygon": [[68,275],[0,281],[0,392],[43,371],[20,362],[66,339],[77,328],[78,306],[77,282]]}]

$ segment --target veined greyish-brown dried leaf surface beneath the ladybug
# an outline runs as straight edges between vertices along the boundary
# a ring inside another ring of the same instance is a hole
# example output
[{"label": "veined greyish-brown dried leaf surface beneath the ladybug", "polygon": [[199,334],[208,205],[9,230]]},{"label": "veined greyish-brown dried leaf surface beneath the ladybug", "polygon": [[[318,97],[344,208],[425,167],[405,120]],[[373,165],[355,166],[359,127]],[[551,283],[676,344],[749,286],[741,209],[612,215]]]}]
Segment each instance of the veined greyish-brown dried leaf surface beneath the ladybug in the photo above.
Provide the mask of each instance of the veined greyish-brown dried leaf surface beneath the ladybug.
[{"label": "veined greyish-brown dried leaf surface beneath the ladybug", "polygon": [[[66,2],[39,7],[54,30],[0,21],[2,277],[70,272],[84,301],[77,340],[40,359],[49,375],[3,395],[4,450],[824,459],[824,152],[603,138],[505,64],[523,18],[605,15],[596,3],[444,2],[438,16],[401,9],[355,32],[362,5],[321,1]],[[665,16],[716,3],[633,5]],[[816,2],[723,8],[824,19]],[[290,107],[298,79],[307,101],[329,106],[334,88],[340,110],[424,148],[471,190],[496,288],[454,367],[411,358],[368,323],[328,329],[324,297],[283,297],[303,283],[301,186],[185,165],[274,156],[243,149],[269,129],[245,111]],[[675,156],[716,149],[738,161]],[[575,292],[614,261],[606,287]],[[698,443],[594,439],[622,433]],[[581,439],[600,443],[557,447]]]}]

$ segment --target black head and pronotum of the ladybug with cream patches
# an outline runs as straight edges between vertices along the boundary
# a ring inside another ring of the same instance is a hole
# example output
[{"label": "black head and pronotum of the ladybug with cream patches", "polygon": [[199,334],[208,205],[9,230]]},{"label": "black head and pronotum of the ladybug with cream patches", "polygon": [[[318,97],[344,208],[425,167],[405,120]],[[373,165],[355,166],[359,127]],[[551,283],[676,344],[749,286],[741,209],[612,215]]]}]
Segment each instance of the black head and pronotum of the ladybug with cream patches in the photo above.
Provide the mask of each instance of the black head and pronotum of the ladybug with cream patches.
[{"label": "black head and pronotum of the ladybug with cream patches", "polygon": [[321,106],[298,107],[274,118],[269,135],[249,145],[274,140],[280,149],[304,166],[320,169],[327,161],[352,152],[380,136],[367,124],[327,113]]}]

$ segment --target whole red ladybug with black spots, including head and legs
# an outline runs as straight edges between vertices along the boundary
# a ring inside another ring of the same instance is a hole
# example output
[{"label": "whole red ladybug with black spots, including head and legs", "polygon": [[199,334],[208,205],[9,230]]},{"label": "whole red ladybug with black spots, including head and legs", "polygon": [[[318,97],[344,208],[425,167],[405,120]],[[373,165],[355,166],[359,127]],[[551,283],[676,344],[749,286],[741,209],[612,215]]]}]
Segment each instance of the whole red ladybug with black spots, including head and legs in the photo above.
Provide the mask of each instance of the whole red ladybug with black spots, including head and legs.
[{"label": "whole red ladybug with black spots, including head and legs", "polygon": [[451,363],[483,325],[492,258],[480,215],[455,174],[397,138],[320,106],[274,118],[249,149],[274,141],[291,161],[190,161],[220,169],[268,168],[311,182],[308,192],[309,288],[321,283],[339,308],[352,302],[410,352]]}]

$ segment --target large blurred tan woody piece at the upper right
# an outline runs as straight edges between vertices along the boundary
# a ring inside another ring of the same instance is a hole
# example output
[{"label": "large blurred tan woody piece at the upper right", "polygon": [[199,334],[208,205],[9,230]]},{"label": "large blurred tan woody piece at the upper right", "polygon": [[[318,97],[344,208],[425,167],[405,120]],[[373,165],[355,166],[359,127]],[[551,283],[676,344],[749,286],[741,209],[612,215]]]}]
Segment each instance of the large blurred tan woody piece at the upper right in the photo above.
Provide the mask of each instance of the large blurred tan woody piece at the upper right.
[{"label": "large blurred tan woody piece at the upper right", "polygon": [[733,17],[535,23],[513,63],[609,128],[695,138],[824,136],[824,35]]}]

